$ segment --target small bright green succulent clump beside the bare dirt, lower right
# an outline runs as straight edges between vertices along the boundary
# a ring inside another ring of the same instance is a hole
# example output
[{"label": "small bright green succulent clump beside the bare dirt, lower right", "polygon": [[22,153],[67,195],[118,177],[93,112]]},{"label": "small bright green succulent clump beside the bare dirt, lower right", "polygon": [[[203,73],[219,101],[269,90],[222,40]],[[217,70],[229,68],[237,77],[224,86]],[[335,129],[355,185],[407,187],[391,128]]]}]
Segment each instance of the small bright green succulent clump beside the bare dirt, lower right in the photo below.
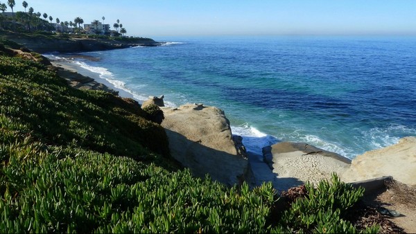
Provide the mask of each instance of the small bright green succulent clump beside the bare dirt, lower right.
[{"label": "small bright green succulent clump beside the bare dirt, lower right", "polygon": [[[320,181],[316,188],[306,183],[306,197],[297,198],[289,210],[284,212],[275,232],[357,233],[356,228],[343,219],[363,196],[364,188],[353,188],[332,174],[331,183]],[[378,227],[364,232],[376,233]]]}]

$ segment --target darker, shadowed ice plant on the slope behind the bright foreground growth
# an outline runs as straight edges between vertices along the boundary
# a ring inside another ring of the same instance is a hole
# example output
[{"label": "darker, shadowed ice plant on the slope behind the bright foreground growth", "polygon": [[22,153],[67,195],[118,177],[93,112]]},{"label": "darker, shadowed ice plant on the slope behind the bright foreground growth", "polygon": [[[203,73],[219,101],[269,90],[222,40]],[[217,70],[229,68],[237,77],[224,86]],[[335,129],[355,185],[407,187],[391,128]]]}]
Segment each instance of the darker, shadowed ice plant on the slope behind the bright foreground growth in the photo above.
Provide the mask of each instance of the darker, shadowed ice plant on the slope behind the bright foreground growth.
[{"label": "darker, shadowed ice plant on the slope behind the bright foreground growth", "polygon": [[42,141],[135,159],[148,150],[168,155],[164,129],[146,120],[139,105],[104,91],[72,89],[42,64],[18,57],[0,57],[0,70],[0,108]]}]

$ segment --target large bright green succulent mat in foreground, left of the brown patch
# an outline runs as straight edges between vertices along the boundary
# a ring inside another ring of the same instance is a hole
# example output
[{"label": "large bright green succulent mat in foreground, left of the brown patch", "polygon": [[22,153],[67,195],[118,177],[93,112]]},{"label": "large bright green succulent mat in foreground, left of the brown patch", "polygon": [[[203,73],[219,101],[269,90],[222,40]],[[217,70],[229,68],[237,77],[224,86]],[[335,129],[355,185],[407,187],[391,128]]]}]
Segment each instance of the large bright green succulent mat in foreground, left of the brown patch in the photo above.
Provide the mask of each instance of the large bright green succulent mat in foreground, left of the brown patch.
[{"label": "large bright green succulent mat in foreground, left of the brown patch", "polygon": [[[9,152],[0,183],[1,233],[264,233],[275,201],[267,183],[229,189],[189,170],[76,147],[26,143]],[[1,151],[0,151],[1,152]]]}]

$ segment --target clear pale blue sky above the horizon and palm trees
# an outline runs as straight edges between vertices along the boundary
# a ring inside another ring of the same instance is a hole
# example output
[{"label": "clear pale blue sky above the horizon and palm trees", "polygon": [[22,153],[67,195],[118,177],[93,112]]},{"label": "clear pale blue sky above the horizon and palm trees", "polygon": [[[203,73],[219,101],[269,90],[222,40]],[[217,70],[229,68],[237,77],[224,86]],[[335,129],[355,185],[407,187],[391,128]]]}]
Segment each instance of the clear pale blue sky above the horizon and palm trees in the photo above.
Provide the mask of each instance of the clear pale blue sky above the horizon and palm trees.
[{"label": "clear pale blue sky above the horizon and palm trees", "polygon": [[[7,2],[0,0],[0,2]],[[23,11],[16,0],[15,11]],[[55,21],[116,19],[128,35],[416,35],[415,0],[26,0]],[[10,8],[8,8],[10,11]]]}]

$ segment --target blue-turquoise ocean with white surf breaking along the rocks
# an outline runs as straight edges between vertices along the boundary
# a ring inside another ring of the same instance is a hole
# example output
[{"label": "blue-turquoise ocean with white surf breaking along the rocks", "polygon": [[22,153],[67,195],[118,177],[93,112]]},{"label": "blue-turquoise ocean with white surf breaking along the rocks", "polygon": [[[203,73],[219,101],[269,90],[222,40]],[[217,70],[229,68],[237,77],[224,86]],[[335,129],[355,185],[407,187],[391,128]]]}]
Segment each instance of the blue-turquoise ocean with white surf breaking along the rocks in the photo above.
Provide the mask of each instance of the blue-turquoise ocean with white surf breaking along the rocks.
[{"label": "blue-turquoise ocean with white surf breaking along the rocks", "polygon": [[248,151],[304,142],[349,159],[416,136],[416,37],[173,37],[63,57],[143,102],[225,111]]}]

